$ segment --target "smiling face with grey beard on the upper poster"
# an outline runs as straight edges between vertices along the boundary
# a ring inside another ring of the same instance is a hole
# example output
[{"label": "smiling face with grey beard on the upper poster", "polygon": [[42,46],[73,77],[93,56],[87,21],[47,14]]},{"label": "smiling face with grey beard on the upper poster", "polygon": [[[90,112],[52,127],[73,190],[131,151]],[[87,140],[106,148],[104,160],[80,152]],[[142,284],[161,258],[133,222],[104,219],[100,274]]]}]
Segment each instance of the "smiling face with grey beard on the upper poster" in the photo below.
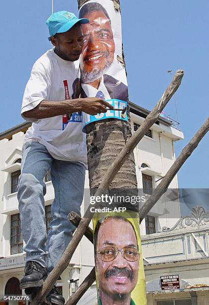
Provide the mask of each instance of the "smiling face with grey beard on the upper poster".
[{"label": "smiling face with grey beard on the upper poster", "polygon": [[82,24],[84,47],[81,73],[84,83],[91,83],[104,75],[114,59],[115,44],[109,19],[102,10],[83,16],[90,20]]}]

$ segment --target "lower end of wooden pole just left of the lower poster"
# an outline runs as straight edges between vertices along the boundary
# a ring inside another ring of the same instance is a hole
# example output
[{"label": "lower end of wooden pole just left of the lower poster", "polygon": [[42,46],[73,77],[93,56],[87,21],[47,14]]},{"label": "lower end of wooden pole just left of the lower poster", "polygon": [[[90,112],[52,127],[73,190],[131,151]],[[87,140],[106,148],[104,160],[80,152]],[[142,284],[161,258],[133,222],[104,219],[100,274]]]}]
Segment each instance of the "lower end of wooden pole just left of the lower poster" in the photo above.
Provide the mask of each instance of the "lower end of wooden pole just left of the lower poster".
[{"label": "lower end of wooden pole just left of the lower poster", "polygon": [[85,294],[89,287],[95,282],[95,267],[92,269],[90,274],[86,277],[84,282],[79,286],[78,290],[68,299],[66,305],[76,305],[81,297]]}]

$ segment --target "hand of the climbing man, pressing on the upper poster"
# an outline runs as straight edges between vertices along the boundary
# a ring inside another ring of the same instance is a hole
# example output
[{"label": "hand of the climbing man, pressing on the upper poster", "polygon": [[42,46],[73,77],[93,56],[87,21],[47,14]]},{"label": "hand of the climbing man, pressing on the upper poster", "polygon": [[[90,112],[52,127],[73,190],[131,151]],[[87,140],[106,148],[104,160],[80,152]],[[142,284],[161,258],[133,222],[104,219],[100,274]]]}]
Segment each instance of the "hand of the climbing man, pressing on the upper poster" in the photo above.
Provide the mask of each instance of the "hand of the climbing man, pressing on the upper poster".
[{"label": "hand of the climbing man, pressing on the upper poster", "polygon": [[113,106],[108,102],[99,98],[85,98],[81,99],[81,110],[90,115],[97,115],[98,113],[105,113],[108,109],[113,109]]}]

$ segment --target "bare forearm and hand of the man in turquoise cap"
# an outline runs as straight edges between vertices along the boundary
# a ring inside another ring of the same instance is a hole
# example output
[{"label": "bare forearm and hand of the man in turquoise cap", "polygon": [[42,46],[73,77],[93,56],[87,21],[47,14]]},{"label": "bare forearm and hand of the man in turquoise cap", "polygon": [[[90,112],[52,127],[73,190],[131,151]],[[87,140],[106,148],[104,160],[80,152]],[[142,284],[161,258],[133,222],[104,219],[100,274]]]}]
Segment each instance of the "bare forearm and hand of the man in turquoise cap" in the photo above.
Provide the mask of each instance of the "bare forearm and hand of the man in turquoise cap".
[{"label": "bare forearm and hand of the man in turquoise cap", "polygon": [[112,105],[99,98],[74,99],[59,102],[43,100],[35,108],[25,111],[23,115],[25,118],[38,120],[80,111],[97,115],[98,113],[105,113],[107,111],[106,107],[113,109]]}]

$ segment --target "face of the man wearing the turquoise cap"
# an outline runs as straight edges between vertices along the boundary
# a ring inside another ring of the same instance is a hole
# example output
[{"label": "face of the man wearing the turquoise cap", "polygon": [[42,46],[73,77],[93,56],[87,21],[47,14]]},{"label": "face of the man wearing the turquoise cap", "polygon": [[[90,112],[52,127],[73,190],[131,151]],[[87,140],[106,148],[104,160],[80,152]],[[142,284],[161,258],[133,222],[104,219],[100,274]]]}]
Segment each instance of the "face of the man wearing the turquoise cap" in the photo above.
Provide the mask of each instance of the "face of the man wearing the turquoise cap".
[{"label": "face of the man wearing the turquoise cap", "polygon": [[76,23],[69,31],[57,33],[51,37],[55,53],[62,59],[78,60],[84,45],[83,32],[80,23]]}]

